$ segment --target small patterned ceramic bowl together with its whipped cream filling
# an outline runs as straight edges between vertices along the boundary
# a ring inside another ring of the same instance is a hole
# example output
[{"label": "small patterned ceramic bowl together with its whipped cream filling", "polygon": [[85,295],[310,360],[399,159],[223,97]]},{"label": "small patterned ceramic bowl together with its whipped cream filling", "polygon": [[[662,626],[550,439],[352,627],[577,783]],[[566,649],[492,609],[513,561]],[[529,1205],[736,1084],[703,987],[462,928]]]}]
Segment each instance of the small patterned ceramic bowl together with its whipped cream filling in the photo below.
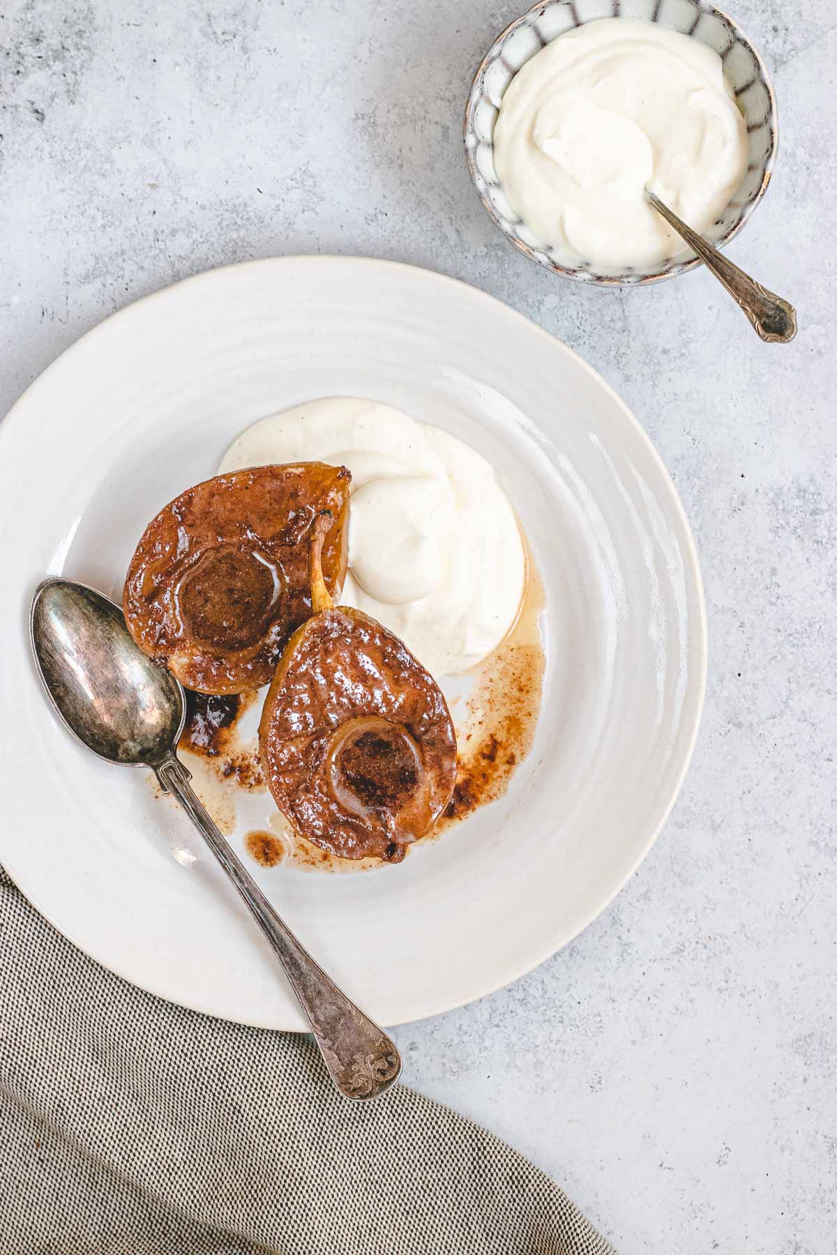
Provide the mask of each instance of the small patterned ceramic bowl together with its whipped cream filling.
[{"label": "small patterned ceramic bowl together with its whipped cream filling", "polygon": [[723,246],[769,181],[776,100],[758,53],[709,5],[601,8],[547,0],[498,36],[472,85],[466,154],[528,257],[587,282],[650,282],[698,261],[646,190]]}]

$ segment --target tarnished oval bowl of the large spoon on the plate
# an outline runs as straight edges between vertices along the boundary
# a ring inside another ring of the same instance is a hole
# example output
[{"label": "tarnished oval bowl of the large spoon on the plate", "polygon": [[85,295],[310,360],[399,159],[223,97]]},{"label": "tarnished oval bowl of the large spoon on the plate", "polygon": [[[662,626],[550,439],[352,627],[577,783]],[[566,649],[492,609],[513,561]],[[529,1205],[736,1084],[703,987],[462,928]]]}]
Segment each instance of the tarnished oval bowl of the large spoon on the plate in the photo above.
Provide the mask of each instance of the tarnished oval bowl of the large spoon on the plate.
[{"label": "tarnished oval bowl of the large spoon on the plate", "polygon": [[171,754],[186,719],[183,688],[137,648],[115,602],[49,579],[30,624],[46,693],[82,744],[123,767],[156,767]]}]

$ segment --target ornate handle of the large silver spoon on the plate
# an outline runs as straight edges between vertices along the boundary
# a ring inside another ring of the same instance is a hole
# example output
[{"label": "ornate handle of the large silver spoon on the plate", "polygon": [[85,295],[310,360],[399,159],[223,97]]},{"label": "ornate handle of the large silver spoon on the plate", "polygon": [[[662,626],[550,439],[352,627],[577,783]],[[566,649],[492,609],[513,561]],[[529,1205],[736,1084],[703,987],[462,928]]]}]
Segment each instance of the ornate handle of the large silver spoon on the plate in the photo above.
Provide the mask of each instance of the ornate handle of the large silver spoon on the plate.
[{"label": "ornate handle of the large silver spoon on the plate", "polygon": [[189,784],[186,767],[172,754],[154,771],[163,789],[183,807],[270,941],[340,1093],[346,1098],[366,1099],[383,1094],[402,1071],[395,1043],[338,989],[279,917],[205,811]]}]

